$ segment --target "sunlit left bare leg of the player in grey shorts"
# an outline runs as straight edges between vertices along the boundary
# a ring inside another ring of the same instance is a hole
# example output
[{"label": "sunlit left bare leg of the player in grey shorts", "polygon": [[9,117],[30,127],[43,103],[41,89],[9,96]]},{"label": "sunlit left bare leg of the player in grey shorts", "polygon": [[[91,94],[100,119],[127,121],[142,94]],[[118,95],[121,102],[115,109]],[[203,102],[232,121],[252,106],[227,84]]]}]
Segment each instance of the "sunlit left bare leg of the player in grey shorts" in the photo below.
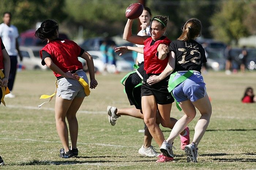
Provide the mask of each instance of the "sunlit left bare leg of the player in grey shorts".
[{"label": "sunlit left bare leg of the player in grey shorts", "polygon": [[68,127],[67,127],[65,118],[71,103],[72,103],[72,100],[67,100],[67,99],[63,99],[61,97],[56,96],[56,100],[55,100],[56,129],[65,152],[69,150]]}]

